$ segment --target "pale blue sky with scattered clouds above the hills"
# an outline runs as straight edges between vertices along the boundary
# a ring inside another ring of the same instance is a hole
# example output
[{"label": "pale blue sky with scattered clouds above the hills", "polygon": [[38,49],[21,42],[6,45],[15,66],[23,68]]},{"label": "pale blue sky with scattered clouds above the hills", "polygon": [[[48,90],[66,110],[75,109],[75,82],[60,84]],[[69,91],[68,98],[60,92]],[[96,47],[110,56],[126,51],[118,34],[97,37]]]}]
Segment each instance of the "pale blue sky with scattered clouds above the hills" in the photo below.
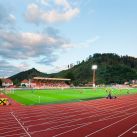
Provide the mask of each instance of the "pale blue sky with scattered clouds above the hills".
[{"label": "pale blue sky with scattered clouds above the hills", "polygon": [[137,0],[0,0],[0,77],[136,51]]}]

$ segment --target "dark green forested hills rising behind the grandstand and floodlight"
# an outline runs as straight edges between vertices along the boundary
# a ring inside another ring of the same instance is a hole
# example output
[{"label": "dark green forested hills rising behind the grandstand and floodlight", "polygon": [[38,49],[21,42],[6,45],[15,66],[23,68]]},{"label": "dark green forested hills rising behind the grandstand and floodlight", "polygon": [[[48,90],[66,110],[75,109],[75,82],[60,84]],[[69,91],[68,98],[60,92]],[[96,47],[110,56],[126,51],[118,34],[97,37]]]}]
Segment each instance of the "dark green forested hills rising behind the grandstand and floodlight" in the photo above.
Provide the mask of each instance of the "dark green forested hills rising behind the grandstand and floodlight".
[{"label": "dark green forested hills rising behind the grandstand and floodlight", "polygon": [[34,76],[70,78],[75,85],[85,84],[92,80],[91,66],[93,64],[98,65],[97,84],[124,83],[137,79],[137,58],[112,53],[90,55],[81,63],[59,73],[45,74],[33,68],[10,78],[15,84]]}]

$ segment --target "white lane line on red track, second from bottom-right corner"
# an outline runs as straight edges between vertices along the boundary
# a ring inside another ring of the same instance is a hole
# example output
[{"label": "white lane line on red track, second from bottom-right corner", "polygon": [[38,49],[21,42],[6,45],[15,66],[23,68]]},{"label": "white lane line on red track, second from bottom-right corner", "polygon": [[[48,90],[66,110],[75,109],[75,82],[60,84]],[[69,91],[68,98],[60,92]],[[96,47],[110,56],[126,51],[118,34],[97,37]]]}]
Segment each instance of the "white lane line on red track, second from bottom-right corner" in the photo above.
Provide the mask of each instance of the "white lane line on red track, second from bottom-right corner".
[{"label": "white lane line on red track, second from bottom-right corner", "polygon": [[109,128],[109,127],[111,127],[111,126],[113,126],[113,125],[115,125],[115,124],[117,124],[117,123],[119,123],[119,122],[121,122],[121,121],[123,121],[123,120],[125,120],[125,119],[128,119],[129,117],[132,117],[132,116],[134,116],[134,115],[136,115],[136,114],[137,114],[137,112],[134,113],[134,114],[132,114],[132,115],[130,115],[130,116],[127,116],[126,118],[123,118],[123,119],[121,119],[121,120],[119,120],[119,121],[117,121],[117,122],[114,122],[114,123],[112,123],[112,124],[110,124],[110,125],[108,125],[108,126],[106,126],[106,127],[103,127],[103,128],[101,128],[101,129],[99,129],[99,130],[96,130],[95,132],[93,132],[93,133],[91,133],[91,134],[89,134],[89,135],[86,135],[85,137],[89,137],[89,136],[91,136],[91,135],[93,135],[93,134],[96,134],[96,133],[98,133],[98,132],[100,132],[100,131],[102,131],[102,130],[104,130],[104,129],[106,129],[106,128]]}]

